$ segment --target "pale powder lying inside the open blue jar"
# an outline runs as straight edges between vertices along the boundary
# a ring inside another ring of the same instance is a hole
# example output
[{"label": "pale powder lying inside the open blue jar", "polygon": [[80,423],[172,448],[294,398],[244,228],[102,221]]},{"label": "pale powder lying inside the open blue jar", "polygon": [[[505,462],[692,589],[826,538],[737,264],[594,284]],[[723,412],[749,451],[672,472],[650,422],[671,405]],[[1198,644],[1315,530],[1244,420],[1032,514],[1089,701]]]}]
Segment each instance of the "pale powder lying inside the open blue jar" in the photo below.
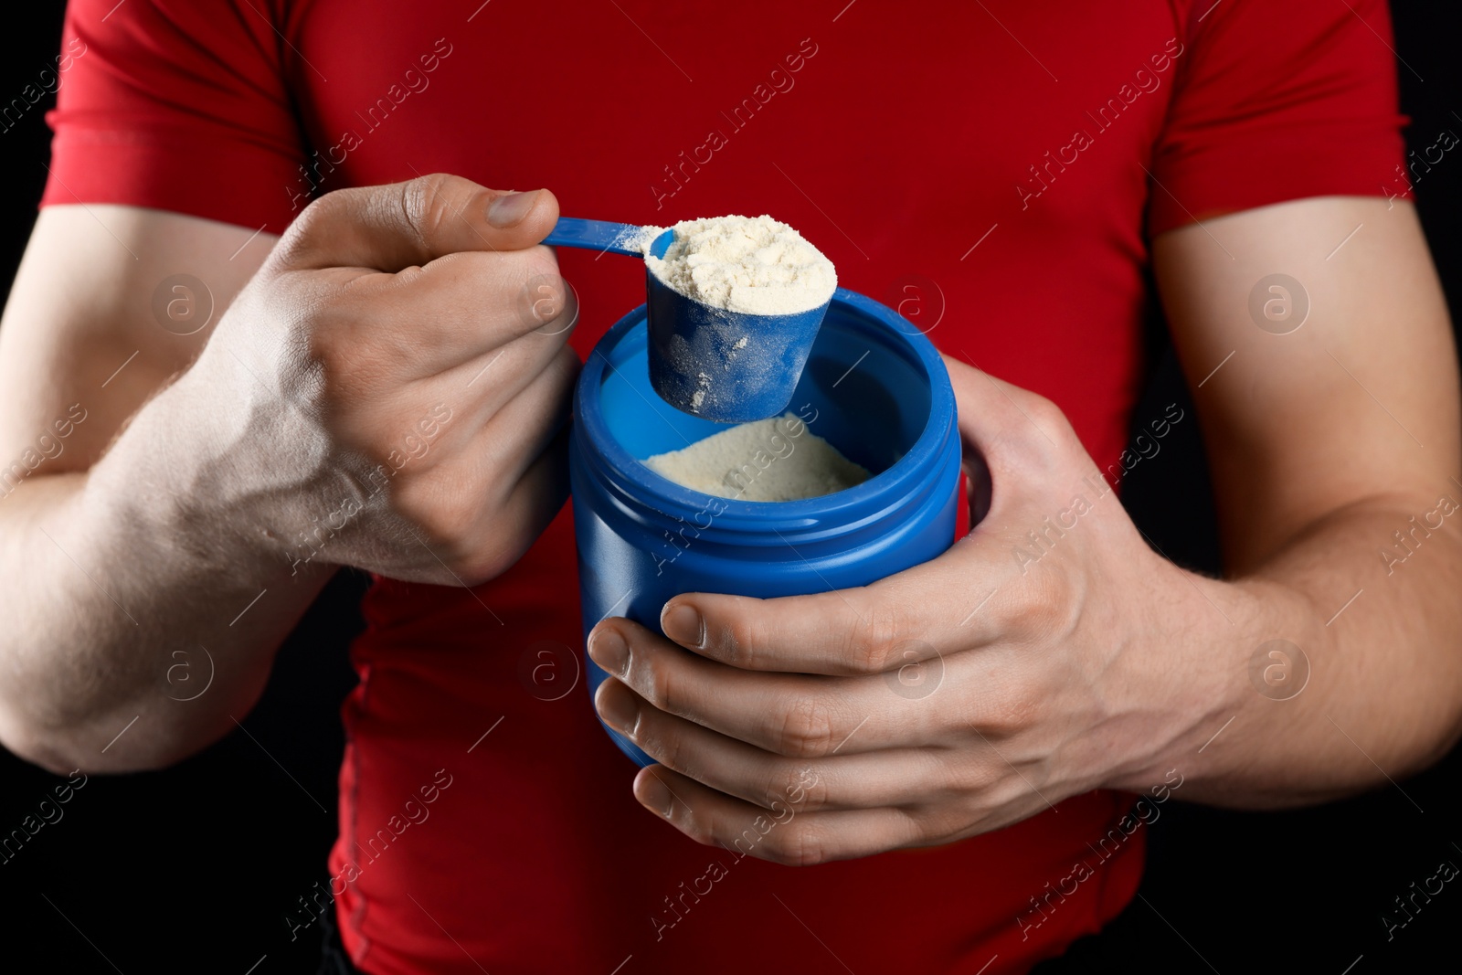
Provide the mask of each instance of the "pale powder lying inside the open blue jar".
[{"label": "pale powder lying inside the open blue jar", "polygon": [[740,501],[822,497],[871,477],[792,414],[738,424],[658,453],[645,466],[693,491]]}]

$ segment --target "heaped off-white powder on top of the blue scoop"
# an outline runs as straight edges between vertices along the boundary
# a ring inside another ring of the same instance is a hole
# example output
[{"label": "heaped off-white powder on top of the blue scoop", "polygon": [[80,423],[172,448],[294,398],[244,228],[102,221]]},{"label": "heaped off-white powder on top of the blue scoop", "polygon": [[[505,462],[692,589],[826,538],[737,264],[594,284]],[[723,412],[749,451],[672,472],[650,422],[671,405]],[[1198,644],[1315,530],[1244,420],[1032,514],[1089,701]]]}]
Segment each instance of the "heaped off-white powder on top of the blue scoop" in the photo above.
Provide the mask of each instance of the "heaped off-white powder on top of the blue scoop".
[{"label": "heaped off-white powder on top of the blue scoop", "polygon": [[675,240],[665,257],[646,253],[645,263],[673,291],[713,308],[795,314],[826,303],[838,288],[832,262],[770,216],[681,221],[671,229]]}]

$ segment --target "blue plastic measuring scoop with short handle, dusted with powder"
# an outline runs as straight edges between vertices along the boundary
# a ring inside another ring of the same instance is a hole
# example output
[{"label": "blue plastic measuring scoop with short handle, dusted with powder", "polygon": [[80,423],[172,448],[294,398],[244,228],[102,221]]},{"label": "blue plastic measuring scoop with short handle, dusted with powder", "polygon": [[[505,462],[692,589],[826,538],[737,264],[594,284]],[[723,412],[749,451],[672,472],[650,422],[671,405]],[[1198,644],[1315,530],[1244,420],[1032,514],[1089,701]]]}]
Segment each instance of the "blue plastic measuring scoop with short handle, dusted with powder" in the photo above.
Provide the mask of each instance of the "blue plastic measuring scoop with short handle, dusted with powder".
[{"label": "blue plastic measuring scoop with short handle, dusted with powder", "polygon": [[[545,244],[645,257],[649,231],[633,224],[560,216]],[[664,257],[667,229],[649,244]],[[776,417],[792,399],[827,304],[795,314],[747,314],[689,298],[645,268],[649,382],[667,403],[716,422]]]}]

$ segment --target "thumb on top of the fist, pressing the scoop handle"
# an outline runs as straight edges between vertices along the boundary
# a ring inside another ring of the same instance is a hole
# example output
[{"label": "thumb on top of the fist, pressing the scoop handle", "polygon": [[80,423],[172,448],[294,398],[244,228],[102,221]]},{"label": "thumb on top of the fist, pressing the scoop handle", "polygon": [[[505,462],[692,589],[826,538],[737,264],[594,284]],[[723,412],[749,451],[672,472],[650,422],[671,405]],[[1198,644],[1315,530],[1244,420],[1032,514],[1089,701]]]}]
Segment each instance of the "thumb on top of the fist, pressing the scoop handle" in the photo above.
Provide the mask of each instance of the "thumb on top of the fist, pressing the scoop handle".
[{"label": "thumb on top of the fist, pressing the scoop handle", "polygon": [[289,225],[270,260],[295,269],[395,272],[459,251],[531,247],[557,219],[558,200],[548,190],[490,190],[434,172],[326,193]]}]

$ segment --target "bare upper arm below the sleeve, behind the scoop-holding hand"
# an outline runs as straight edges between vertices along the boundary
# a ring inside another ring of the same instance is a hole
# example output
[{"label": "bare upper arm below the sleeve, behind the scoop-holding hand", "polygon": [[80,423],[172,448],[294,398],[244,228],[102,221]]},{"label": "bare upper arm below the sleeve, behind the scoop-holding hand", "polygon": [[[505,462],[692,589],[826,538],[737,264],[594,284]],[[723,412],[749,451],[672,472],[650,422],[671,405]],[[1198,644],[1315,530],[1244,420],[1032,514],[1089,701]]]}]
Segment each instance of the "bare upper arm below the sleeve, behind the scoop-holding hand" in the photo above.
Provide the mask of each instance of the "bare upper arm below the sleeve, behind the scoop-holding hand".
[{"label": "bare upper arm below the sleeve, behind the scoop-holding hand", "polygon": [[45,208],[0,319],[6,487],[95,463],[193,361],[275,240],[136,206]]}]

